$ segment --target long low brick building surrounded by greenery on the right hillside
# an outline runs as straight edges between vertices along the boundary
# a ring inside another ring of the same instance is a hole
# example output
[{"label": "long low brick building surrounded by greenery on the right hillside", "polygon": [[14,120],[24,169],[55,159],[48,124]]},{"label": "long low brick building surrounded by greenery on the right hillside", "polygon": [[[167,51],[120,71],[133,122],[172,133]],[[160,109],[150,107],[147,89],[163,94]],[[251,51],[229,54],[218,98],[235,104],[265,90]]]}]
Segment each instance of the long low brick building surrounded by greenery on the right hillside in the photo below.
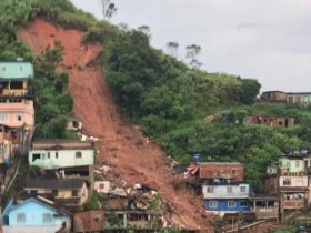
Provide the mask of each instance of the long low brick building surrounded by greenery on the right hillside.
[{"label": "long low brick building surrounded by greenery on the right hillside", "polygon": [[294,118],[281,118],[281,116],[267,116],[267,115],[249,115],[244,119],[244,124],[261,124],[270,128],[293,128]]}]

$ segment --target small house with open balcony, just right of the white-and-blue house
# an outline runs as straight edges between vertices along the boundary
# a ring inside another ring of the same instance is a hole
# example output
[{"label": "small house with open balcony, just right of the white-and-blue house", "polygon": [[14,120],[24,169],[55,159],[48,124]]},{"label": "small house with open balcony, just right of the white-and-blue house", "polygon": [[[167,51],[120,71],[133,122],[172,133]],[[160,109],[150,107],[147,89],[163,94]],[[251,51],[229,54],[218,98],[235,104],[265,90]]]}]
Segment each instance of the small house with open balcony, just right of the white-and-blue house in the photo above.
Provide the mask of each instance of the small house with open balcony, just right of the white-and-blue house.
[{"label": "small house with open balcony, just right of the white-and-blue house", "polygon": [[250,197],[251,212],[257,220],[275,219],[279,221],[279,199],[275,195],[255,195]]}]

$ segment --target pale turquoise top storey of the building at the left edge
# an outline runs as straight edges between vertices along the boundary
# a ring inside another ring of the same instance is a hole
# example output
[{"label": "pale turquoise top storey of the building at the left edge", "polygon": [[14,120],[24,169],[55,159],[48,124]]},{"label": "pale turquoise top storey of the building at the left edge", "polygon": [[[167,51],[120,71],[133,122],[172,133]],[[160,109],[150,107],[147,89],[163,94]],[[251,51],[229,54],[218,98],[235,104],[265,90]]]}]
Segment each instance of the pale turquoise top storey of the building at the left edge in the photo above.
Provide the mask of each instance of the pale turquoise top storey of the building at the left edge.
[{"label": "pale turquoise top storey of the building at the left edge", "polygon": [[14,80],[33,77],[33,65],[30,62],[0,62],[0,79]]}]

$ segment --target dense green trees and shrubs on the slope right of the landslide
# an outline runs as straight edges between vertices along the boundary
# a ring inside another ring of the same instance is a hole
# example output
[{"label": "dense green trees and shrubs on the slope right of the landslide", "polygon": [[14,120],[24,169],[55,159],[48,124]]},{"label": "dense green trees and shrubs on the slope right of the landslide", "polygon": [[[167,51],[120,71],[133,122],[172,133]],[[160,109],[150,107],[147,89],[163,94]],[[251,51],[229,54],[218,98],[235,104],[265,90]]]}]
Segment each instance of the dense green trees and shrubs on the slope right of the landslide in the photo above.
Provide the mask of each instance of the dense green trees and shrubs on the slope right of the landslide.
[{"label": "dense green trees and shrubs on the slope right of the landslide", "polygon": [[[108,42],[104,58],[108,82],[124,114],[181,163],[189,163],[194,152],[203,161],[242,162],[247,181],[262,192],[265,168],[278,155],[310,148],[310,111],[255,103],[255,80],[190,69],[151,48],[149,36],[139,30]],[[291,130],[244,125],[248,114],[294,116],[300,124]]]}]

